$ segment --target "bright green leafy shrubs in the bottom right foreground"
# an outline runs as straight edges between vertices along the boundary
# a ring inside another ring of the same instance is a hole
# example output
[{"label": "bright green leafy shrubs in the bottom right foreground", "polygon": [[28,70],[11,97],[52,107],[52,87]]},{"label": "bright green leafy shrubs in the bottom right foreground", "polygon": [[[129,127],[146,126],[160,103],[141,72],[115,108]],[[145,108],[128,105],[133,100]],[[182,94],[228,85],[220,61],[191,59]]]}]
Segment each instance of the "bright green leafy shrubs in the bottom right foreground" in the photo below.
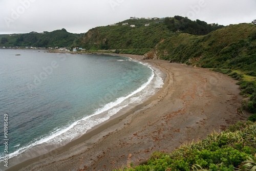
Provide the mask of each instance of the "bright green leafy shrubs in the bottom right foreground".
[{"label": "bright green leafy shrubs in the bottom right foreground", "polygon": [[122,170],[256,170],[256,123],[238,122],[222,133],[170,154],[155,152],[145,164]]}]

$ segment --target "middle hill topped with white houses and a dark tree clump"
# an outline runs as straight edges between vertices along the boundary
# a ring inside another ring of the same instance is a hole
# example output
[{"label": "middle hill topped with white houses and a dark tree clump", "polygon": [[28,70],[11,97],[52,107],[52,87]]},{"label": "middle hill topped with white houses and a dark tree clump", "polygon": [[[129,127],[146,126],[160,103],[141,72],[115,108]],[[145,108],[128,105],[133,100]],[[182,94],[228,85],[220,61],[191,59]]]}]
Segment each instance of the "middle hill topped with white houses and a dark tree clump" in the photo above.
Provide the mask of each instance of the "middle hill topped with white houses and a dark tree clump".
[{"label": "middle hill topped with white houses and a dark tree clump", "polygon": [[[131,27],[134,25],[135,27]],[[144,54],[162,39],[177,32],[207,34],[223,26],[191,21],[181,16],[162,19],[128,19],[115,25],[96,27],[85,33],[79,46],[88,50],[130,49],[126,53]]]}]

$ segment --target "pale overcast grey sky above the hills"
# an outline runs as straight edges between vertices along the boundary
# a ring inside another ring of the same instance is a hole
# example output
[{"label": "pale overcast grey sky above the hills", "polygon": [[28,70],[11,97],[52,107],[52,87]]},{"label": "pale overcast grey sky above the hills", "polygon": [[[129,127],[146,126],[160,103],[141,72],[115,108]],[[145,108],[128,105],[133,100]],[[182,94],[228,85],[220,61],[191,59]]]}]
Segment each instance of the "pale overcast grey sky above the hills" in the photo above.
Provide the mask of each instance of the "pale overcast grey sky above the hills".
[{"label": "pale overcast grey sky above the hills", "polygon": [[0,34],[65,28],[86,33],[135,17],[180,15],[208,24],[251,23],[256,0],[0,0]]}]

